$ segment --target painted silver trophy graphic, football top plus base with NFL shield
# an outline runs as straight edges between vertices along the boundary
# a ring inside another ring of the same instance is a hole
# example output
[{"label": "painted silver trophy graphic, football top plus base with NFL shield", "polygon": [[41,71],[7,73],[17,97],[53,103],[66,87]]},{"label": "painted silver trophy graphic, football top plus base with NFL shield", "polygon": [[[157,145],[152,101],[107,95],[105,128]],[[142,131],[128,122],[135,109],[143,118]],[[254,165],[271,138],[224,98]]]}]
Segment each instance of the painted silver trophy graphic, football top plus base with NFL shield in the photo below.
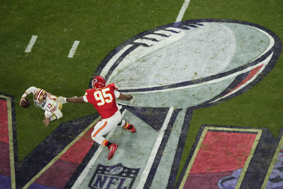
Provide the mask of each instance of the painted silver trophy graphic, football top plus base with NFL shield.
[{"label": "painted silver trophy graphic, football top plus base with NFL shield", "polygon": [[137,132],[108,133],[106,139],[119,145],[113,159],[105,161],[108,151],[98,147],[71,188],[174,188],[193,110],[249,90],[281,50],[270,30],[226,19],[172,23],[125,41],[93,76],[134,95],[133,103],[118,103]]}]

